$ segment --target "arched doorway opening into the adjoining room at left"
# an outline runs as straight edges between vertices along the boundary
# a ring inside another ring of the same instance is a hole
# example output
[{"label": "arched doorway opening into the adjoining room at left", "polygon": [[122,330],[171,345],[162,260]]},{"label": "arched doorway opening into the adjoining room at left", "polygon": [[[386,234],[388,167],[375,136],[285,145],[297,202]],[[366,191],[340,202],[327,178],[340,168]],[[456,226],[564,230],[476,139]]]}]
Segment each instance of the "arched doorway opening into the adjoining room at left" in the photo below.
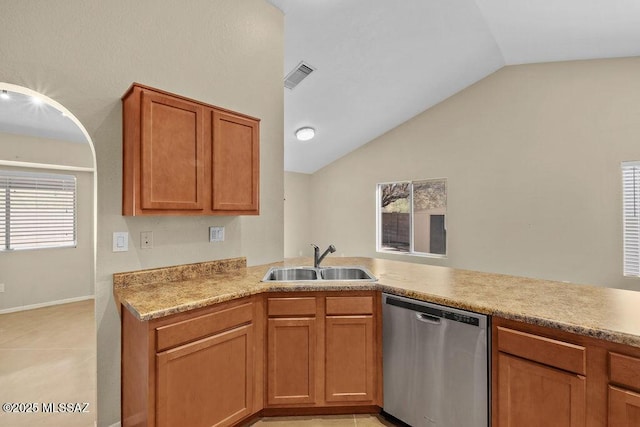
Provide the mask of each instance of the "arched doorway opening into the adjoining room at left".
[{"label": "arched doorway opening into the adjoining room at left", "polygon": [[96,176],[69,110],[0,82],[0,400],[38,405],[2,425],[96,420]]}]

